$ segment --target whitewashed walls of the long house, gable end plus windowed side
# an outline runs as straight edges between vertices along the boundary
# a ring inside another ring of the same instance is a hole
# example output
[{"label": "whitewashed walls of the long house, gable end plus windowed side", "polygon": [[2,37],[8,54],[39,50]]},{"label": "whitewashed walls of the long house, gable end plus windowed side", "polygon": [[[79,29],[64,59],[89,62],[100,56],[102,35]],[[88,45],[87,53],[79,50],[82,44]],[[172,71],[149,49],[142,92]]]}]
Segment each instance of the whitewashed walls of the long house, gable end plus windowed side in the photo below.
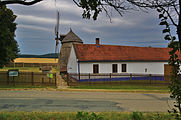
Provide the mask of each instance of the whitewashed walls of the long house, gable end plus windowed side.
[{"label": "whitewashed walls of the long house, gable end plus windowed side", "polygon": [[[73,46],[72,46],[73,48]],[[164,74],[167,62],[77,62],[75,50],[71,49],[68,61],[68,73],[93,73],[93,65],[98,64],[99,73],[112,73],[112,64],[117,64],[117,73]],[[126,72],[122,72],[126,64]]]}]

